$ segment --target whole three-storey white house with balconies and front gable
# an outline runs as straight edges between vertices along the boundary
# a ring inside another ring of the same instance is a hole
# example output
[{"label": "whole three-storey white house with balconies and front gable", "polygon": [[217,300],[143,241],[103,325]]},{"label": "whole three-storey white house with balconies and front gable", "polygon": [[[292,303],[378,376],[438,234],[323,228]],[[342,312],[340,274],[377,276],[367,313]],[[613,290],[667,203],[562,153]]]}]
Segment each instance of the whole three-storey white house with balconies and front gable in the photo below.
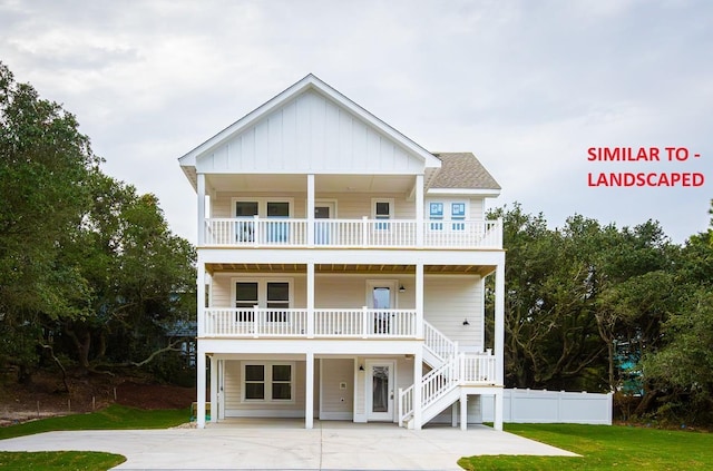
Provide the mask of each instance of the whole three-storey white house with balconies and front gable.
[{"label": "whole three-storey white house with balconies and front gable", "polygon": [[[432,154],[309,75],[179,159],[198,207],[198,426],[502,426],[505,252],[470,153]],[[494,338],[485,278],[495,277]]]}]

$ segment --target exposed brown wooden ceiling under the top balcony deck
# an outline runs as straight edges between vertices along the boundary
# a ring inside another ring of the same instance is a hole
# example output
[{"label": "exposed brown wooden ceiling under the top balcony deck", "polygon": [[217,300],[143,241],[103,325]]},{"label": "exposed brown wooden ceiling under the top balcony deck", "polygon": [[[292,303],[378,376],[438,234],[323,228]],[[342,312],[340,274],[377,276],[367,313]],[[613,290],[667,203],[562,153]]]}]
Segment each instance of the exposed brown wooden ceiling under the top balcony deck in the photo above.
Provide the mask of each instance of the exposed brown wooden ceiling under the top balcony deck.
[{"label": "exposed brown wooden ceiling under the top balcony deck", "polygon": [[[284,263],[214,263],[208,264],[211,274],[216,272],[232,273],[306,273],[305,264]],[[427,274],[479,274],[488,275],[495,267],[488,265],[426,265],[423,272]],[[414,265],[389,265],[389,264],[316,264],[316,273],[363,273],[363,274],[414,274]]]}]

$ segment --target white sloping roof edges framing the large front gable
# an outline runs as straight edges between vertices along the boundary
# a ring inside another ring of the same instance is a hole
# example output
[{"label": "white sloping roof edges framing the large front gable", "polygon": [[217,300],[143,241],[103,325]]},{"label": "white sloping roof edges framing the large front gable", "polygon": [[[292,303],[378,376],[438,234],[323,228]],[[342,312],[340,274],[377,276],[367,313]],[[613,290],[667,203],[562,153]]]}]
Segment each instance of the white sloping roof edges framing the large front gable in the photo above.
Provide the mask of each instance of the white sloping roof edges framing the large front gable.
[{"label": "white sloping roof edges framing the large front gable", "polygon": [[255,125],[273,110],[284,106],[293,98],[309,90],[313,90],[331,99],[332,101],[336,102],[340,107],[349,110],[351,114],[359,117],[370,126],[379,129],[380,133],[384,134],[392,141],[397,143],[399,146],[407,149],[411,155],[419,156],[423,160],[424,167],[427,169],[439,168],[441,166],[441,161],[438,158],[436,158],[431,153],[426,150],[423,147],[421,147],[410,138],[406,137],[403,134],[401,134],[400,131],[398,131],[397,129],[388,125],[387,122],[377,118],[374,115],[372,115],[361,106],[356,105],[346,96],[342,95],[336,89],[332,88],[324,81],[320,80],[313,73],[309,73],[302,80],[292,85],[284,91],[280,92],[279,95],[270,99],[264,105],[248,112],[247,115],[245,115],[244,117],[242,117],[241,119],[238,119],[237,121],[228,126],[227,128],[223,129],[222,131],[219,131],[218,134],[216,134],[215,136],[206,140],[205,143],[201,144],[199,146],[197,146],[196,148],[194,148],[193,150],[191,150],[189,153],[180,157],[178,161],[180,163],[180,166],[183,167],[184,171],[186,173],[188,178],[192,180],[194,186],[195,186],[195,166],[196,166],[197,157],[208,154],[212,149],[215,149],[222,143],[225,143],[226,140],[231,139],[233,136],[238,135],[242,130]]}]

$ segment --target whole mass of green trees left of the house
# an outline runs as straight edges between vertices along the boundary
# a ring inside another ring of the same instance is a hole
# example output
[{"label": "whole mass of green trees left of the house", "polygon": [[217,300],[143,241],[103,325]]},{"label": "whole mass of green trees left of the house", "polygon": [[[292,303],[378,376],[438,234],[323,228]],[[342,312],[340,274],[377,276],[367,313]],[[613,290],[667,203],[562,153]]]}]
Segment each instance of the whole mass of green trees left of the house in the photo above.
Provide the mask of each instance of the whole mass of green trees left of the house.
[{"label": "whole mass of green trees left of the house", "polygon": [[145,362],[195,318],[194,248],[100,163],[76,118],[0,62],[0,365],[21,381],[48,360]]}]

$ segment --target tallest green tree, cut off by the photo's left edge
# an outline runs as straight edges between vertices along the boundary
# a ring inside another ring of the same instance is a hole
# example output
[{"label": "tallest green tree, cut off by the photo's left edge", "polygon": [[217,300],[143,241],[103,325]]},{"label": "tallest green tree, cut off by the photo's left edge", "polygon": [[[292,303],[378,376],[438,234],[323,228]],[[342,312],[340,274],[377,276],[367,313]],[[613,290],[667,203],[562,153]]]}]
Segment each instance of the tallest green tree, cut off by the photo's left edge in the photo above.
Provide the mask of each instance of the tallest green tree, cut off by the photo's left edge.
[{"label": "tallest green tree, cut off by the photo's left edge", "polygon": [[60,254],[98,164],[75,117],[0,62],[0,361],[21,379],[37,361],[39,316],[87,312],[88,286]]}]

